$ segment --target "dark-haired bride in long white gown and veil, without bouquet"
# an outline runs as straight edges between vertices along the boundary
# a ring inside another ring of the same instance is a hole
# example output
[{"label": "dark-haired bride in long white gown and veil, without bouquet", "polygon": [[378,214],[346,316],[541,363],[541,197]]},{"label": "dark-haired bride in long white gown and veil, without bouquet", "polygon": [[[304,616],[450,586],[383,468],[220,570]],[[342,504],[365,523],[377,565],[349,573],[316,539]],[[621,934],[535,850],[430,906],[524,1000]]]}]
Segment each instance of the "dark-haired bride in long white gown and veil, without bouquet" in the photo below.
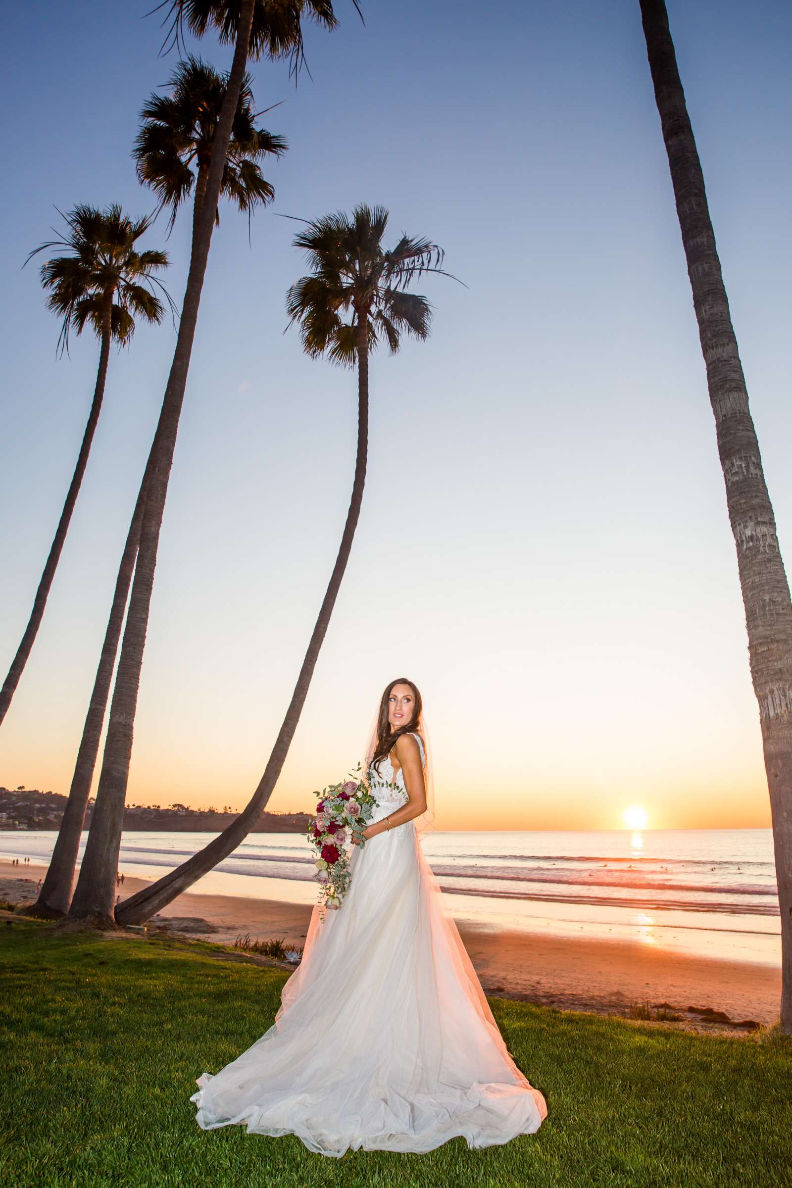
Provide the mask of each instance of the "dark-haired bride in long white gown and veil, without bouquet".
[{"label": "dark-haired bride in long white gown and veil, without bouquet", "polygon": [[382,694],[367,748],[376,798],[340,910],[317,906],[273,1025],[198,1078],[197,1123],[297,1135],[322,1155],[431,1151],[532,1135],[546,1117],[507,1051],[420,838],[433,791],[412,681]]}]

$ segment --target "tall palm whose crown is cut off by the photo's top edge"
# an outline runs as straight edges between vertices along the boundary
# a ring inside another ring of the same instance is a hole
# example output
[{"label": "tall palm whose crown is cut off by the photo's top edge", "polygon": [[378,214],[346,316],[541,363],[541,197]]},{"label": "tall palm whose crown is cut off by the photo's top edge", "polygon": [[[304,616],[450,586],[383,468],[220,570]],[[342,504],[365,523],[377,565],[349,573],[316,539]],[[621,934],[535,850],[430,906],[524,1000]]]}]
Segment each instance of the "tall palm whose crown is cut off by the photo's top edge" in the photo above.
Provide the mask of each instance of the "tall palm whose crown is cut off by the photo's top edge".
[{"label": "tall palm whose crown is cut off by the photo's top edge", "polygon": [[113,923],[115,871],[121,845],[123,802],[129,776],[132,734],[151,609],[157,548],[182,403],[186,388],[201,292],[209,259],[211,233],[226,175],[228,145],[245,82],[247,61],[248,57],[268,57],[271,59],[291,57],[292,64],[297,68],[303,53],[302,19],[308,17],[325,29],[334,29],[336,25],[330,0],[172,0],[170,12],[173,15],[173,27],[177,36],[183,24],[186,24],[198,37],[214,27],[218,31],[222,42],[234,43],[234,57],[213,140],[211,160],[201,214],[192,235],[190,271],[173,362],[141,482],[141,491],[145,489],[145,506],[140,524],[140,541],[129,609],[110,702],[104,757],[96,791],[96,807],[91,817],[80,879],[70,908],[71,915],[93,920],[100,927]]}]

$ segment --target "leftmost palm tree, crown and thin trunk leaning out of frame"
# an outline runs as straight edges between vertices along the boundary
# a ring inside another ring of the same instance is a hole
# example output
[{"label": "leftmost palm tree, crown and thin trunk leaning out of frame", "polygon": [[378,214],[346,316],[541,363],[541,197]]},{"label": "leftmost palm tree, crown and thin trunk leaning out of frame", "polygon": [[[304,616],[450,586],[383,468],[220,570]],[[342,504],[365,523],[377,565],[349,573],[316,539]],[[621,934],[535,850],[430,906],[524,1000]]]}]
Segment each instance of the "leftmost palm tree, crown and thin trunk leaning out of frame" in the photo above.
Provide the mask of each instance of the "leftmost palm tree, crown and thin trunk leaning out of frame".
[{"label": "leftmost palm tree, crown and thin trunk leaning out of frame", "polygon": [[99,371],[88,423],[77,454],[77,465],[36,590],[33,609],[0,689],[0,722],[6,716],[33,647],[65,544],[102,409],[110,343],[115,341],[122,347],[129,343],[134,334],[135,317],[156,323],[161,321],[164,314],[164,305],[157,297],[154,286],[165,292],[156,274],[167,267],[167,257],[164,252],[138,249],[138,240],[151,226],[151,217],[129,219],[120,206],[97,210],[95,207],[81,204],[64,215],[64,219],[65,234],[34,248],[27,260],[39,252],[57,247],[66,248],[65,255],[53,257],[42,265],[42,284],[49,291],[46,305],[62,318],[58,335],[61,354],[64,349],[66,352],[69,349],[70,330],[75,334],[82,334],[85,327],[94,330],[101,343]]}]

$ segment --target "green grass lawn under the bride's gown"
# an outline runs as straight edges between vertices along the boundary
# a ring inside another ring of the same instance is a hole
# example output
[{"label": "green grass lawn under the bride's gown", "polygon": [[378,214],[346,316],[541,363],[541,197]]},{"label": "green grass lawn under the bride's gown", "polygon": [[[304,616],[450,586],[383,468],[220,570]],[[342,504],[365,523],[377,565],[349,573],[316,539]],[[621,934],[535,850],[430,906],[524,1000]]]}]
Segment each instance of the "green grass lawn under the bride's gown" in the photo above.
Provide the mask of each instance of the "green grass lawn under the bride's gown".
[{"label": "green grass lawn under the bride's gown", "polygon": [[429,1155],[308,1151],[204,1132],[195,1079],[272,1023],[287,977],[211,947],[0,921],[2,1149],[14,1188],[401,1184],[792,1186],[788,1042],[697,1036],[505,999],[493,1011],[547,1099],[534,1136]]}]

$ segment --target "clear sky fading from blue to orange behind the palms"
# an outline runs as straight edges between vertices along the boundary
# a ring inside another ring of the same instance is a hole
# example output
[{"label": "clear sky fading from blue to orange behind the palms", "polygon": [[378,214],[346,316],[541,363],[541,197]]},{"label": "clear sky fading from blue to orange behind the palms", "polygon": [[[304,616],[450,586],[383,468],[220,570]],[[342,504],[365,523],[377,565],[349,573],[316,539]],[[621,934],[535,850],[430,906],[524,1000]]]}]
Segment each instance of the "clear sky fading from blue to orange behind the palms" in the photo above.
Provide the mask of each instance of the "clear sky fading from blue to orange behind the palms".
[{"label": "clear sky fading from blue to orange behind the palms", "polygon": [[[31,247],[55,207],[150,210],[129,148],[165,83],[151,7],[9,10],[0,220],[0,658],[26,620],[97,348],[56,359]],[[412,676],[438,823],[766,824],[758,713],[704,369],[636,0],[363,0],[310,30],[312,78],[254,64],[290,151],[273,207],[215,234],[165,513],[131,802],[232,803],[258,782],[337,548],[355,385],[284,335],[294,225],[384,203],[468,285],[372,366],[353,558],[274,808],[344,773],[381,688]],[[792,556],[790,32],[778,0],[672,0],[752,407]],[[218,68],[230,50],[190,43]],[[188,220],[167,246],[180,301]],[[165,235],[160,220],[148,245]],[[68,790],[120,550],[172,354],[114,354],[104,410],[0,783]]]}]

